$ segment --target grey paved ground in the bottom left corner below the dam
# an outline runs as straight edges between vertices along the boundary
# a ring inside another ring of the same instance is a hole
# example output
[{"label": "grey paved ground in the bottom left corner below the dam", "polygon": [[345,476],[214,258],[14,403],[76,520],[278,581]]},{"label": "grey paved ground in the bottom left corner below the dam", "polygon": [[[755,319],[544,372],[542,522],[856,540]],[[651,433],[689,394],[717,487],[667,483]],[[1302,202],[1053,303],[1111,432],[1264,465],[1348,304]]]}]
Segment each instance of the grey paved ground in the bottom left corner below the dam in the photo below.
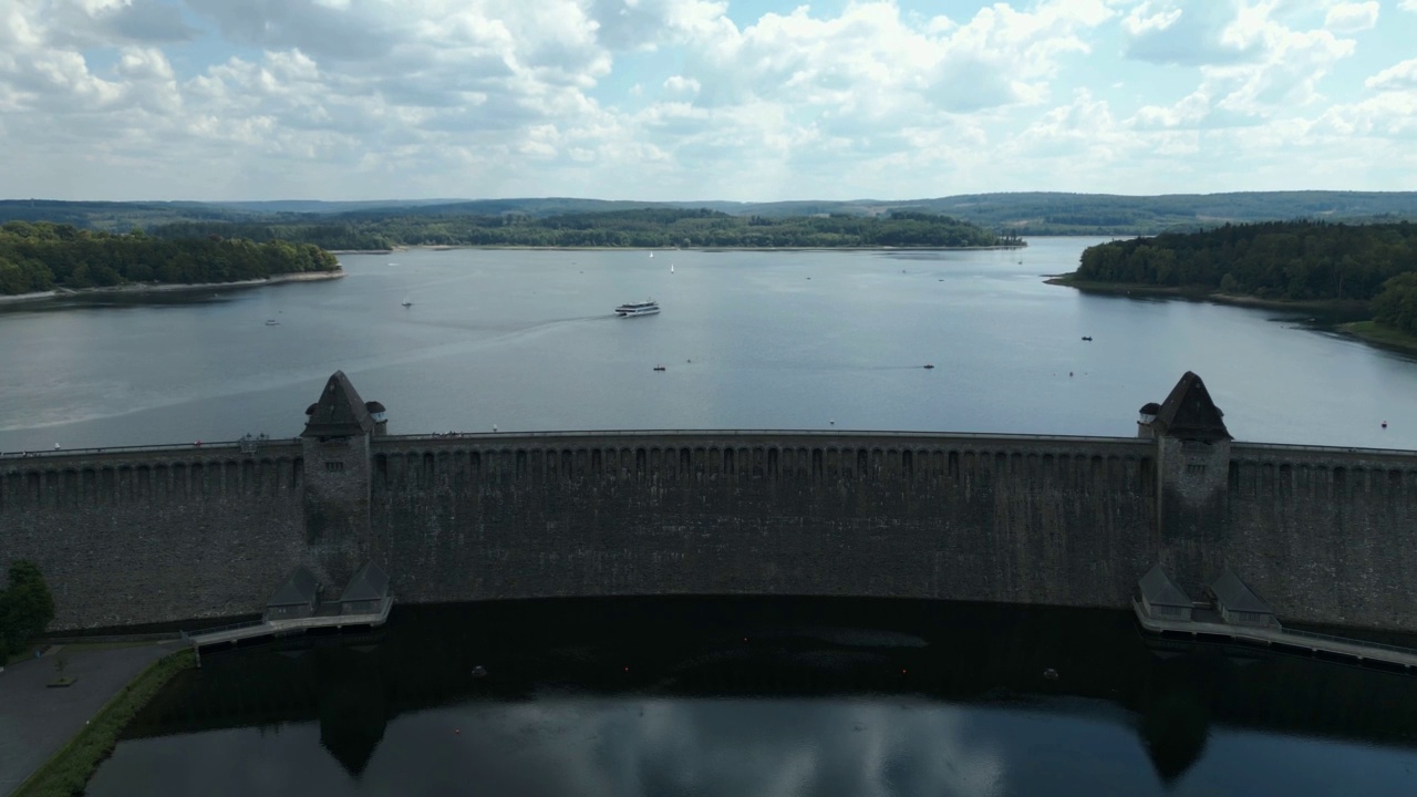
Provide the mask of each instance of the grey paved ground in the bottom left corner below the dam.
[{"label": "grey paved ground in the bottom left corner below the dam", "polygon": [[54,654],[4,668],[0,672],[0,794],[18,788],[135,675],[180,647],[170,641],[69,650],[64,675],[78,682],[65,689],[45,686],[60,675],[54,669]]}]

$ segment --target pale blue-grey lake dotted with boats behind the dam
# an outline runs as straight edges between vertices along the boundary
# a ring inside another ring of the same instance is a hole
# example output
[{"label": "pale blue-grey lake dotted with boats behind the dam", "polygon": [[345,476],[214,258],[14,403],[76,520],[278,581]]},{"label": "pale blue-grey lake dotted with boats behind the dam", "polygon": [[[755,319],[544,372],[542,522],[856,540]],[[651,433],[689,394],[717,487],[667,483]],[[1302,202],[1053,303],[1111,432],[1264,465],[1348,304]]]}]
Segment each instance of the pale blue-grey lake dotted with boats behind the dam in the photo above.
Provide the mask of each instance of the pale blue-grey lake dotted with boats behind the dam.
[{"label": "pale blue-grey lake dotted with boats behind the dam", "polygon": [[[0,305],[0,451],[293,437],[336,369],[395,434],[835,421],[1128,437],[1195,370],[1240,440],[1417,448],[1417,359],[1294,313],[1043,284],[1095,241],[422,250],[341,257],[349,277],[329,282]],[[611,315],[646,296],[663,313]]]}]

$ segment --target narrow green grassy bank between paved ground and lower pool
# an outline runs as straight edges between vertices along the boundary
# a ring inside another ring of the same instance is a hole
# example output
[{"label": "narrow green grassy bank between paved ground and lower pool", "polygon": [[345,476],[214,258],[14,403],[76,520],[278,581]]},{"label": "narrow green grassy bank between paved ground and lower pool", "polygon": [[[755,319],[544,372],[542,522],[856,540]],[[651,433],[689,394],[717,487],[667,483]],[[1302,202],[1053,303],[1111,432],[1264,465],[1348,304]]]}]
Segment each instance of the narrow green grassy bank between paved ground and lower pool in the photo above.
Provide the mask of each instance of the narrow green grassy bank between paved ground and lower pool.
[{"label": "narrow green grassy bank between paved ground and lower pool", "polygon": [[173,675],[197,664],[190,648],[163,657],[135,676],[94,719],[74,735],[14,797],[68,797],[82,794],[94,770],[113,752],[118,735]]}]

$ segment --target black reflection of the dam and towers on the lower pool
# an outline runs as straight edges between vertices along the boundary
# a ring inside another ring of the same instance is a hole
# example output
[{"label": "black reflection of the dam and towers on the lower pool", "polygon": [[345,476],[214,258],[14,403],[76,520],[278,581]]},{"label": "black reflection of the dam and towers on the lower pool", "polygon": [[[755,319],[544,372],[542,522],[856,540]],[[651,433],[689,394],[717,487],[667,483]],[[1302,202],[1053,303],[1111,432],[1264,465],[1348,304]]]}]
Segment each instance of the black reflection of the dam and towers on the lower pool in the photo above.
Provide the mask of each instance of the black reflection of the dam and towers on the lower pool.
[{"label": "black reflection of the dam and towers on the lower pool", "polygon": [[548,696],[1112,706],[1163,783],[1216,725],[1417,747],[1417,678],[1149,641],[1122,611],[836,598],[398,607],[373,635],[204,655],[125,739],[313,720],[359,777],[401,715]]}]

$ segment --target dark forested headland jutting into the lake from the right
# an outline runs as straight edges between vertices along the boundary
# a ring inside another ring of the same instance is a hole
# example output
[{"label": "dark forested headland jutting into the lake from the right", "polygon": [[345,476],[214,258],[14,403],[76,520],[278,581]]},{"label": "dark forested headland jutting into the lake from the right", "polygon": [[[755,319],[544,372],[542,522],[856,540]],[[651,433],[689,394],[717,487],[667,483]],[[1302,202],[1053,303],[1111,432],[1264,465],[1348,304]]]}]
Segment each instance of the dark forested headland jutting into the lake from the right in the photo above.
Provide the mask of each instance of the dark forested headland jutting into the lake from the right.
[{"label": "dark forested headland jutting into the lake from the right", "polygon": [[1197,288],[1288,301],[1372,301],[1417,333],[1417,224],[1226,225],[1088,247],[1081,282]]}]

